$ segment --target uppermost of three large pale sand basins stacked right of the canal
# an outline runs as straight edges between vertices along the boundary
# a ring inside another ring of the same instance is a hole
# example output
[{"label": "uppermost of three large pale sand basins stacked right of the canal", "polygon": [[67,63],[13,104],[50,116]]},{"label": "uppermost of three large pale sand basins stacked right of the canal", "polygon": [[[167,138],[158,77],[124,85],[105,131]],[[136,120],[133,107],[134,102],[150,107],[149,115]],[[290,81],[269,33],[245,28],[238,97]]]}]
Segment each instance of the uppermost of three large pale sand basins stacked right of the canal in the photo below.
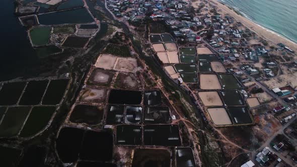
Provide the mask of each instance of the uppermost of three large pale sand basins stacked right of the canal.
[{"label": "uppermost of three large pale sand basins stacked right of the canal", "polygon": [[200,88],[202,90],[220,90],[221,86],[215,74],[200,74]]}]

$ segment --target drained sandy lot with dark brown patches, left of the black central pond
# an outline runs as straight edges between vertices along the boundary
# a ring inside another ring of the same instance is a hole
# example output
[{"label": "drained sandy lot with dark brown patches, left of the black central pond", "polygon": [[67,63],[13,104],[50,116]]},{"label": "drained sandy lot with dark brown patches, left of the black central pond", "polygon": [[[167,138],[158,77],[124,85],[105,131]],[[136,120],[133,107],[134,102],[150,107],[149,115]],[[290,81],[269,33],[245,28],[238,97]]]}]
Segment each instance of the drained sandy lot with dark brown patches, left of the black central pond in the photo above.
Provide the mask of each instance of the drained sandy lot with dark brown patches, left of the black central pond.
[{"label": "drained sandy lot with dark brown patches, left of the black central pond", "polygon": [[87,102],[104,102],[107,95],[107,90],[102,89],[87,89],[81,97],[81,101]]}]

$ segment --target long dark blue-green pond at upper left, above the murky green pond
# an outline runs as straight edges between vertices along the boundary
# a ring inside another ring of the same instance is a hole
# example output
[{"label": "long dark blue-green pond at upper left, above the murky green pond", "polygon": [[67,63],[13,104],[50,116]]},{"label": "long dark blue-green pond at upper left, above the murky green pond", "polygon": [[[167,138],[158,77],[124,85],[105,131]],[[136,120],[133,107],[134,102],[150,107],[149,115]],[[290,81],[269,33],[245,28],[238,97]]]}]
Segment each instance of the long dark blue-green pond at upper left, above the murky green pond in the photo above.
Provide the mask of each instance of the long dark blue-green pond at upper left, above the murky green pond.
[{"label": "long dark blue-green pond at upper left, above the murky green pond", "polygon": [[92,23],[94,19],[85,8],[38,15],[41,25]]}]

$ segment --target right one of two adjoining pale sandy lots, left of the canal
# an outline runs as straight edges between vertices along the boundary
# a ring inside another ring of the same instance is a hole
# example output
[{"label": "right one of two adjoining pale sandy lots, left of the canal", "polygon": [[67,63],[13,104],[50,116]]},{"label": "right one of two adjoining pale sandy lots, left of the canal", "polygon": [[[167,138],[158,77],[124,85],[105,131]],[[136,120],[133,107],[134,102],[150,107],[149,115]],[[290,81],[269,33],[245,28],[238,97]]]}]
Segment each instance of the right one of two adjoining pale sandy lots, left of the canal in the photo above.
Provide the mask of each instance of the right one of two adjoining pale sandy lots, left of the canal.
[{"label": "right one of two adjoining pale sandy lots, left of the canal", "polygon": [[137,61],[135,58],[119,57],[116,61],[114,69],[132,72],[132,71],[136,70],[136,68],[137,68]]}]

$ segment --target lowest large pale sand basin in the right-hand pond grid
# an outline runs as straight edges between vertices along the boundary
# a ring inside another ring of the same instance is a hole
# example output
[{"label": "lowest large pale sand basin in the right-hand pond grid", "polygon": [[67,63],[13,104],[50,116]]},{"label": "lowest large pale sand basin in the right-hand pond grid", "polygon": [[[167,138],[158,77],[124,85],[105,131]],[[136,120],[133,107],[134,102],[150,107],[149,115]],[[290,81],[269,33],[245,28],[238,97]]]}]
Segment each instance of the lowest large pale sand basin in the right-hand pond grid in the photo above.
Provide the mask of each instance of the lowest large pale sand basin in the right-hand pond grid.
[{"label": "lowest large pale sand basin in the right-hand pond grid", "polygon": [[207,112],[215,125],[231,125],[232,122],[224,108],[211,108]]}]

